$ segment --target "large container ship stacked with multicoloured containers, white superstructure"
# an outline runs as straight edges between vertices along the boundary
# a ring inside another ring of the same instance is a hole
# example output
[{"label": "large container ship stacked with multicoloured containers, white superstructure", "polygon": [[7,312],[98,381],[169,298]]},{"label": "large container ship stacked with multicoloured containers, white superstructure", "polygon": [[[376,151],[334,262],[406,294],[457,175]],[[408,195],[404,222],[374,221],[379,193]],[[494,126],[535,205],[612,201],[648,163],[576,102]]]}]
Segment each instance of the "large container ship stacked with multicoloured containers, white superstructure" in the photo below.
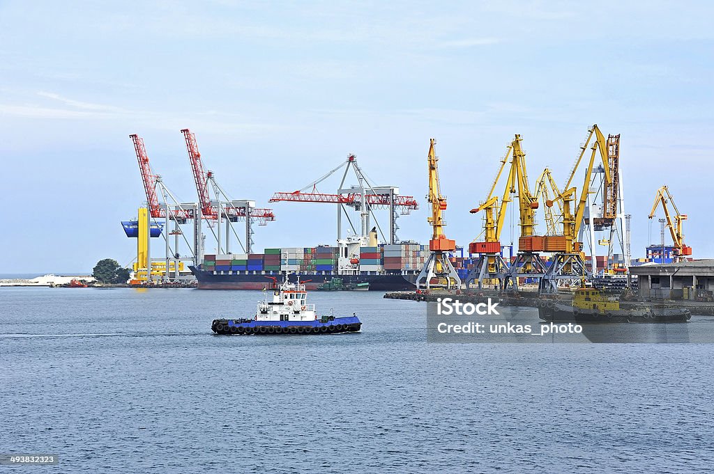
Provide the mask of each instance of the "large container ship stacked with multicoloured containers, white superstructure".
[{"label": "large container ship stacked with multicoloured containers, white superstructure", "polygon": [[308,290],[335,277],[346,285],[368,283],[371,291],[414,289],[428,246],[370,240],[353,237],[337,246],[272,248],[262,254],[206,254],[201,265],[190,269],[198,289],[261,290],[270,277],[299,278]]}]

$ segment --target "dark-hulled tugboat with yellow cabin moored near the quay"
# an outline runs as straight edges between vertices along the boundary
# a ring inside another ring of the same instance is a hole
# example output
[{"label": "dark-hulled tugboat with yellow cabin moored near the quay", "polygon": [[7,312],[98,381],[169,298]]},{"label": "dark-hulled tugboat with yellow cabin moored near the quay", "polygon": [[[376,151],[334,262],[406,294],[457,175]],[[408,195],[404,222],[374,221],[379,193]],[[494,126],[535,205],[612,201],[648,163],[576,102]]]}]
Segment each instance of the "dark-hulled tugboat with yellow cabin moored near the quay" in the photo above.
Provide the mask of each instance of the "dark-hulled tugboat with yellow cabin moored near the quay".
[{"label": "dark-hulled tugboat with yellow cabin moored near the quay", "polygon": [[538,316],[548,322],[675,323],[689,321],[692,314],[685,308],[633,305],[625,309],[618,299],[599,289],[580,287],[573,294],[573,304],[547,302],[538,308]]}]

